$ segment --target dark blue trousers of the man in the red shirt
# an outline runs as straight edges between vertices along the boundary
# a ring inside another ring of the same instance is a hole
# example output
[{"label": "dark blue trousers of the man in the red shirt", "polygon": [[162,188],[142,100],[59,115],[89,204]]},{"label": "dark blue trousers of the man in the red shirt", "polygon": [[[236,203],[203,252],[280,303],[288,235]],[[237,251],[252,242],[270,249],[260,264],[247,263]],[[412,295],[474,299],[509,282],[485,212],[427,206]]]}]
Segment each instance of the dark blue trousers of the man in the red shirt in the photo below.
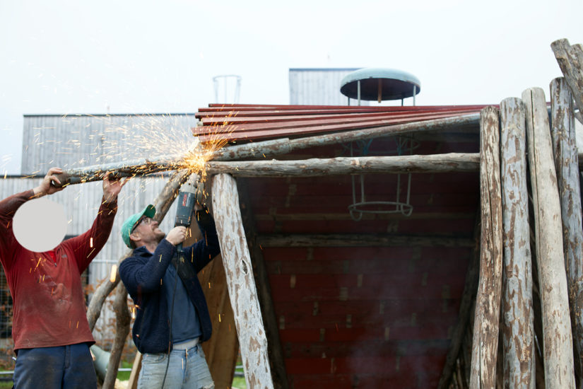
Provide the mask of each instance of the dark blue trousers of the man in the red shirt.
[{"label": "dark blue trousers of the man in the red shirt", "polygon": [[93,359],[86,343],[20,349],[13,378],[15,389],[97,388]]}]

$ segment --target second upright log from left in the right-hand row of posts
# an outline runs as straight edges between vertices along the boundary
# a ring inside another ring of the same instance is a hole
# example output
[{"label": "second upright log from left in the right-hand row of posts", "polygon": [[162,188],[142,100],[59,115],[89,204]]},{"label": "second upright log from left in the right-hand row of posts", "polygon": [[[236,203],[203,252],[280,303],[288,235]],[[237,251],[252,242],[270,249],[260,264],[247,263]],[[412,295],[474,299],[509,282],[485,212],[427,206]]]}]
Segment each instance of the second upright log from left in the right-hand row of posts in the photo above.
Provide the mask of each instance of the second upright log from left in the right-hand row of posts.
[{"label": "second upright log from left in the right-hand row of posts", "polygon": [[502,347],[505,388],[534,388],[529,194],[526,189],[526,127],[519,98],[500,103],[504,267]]}]

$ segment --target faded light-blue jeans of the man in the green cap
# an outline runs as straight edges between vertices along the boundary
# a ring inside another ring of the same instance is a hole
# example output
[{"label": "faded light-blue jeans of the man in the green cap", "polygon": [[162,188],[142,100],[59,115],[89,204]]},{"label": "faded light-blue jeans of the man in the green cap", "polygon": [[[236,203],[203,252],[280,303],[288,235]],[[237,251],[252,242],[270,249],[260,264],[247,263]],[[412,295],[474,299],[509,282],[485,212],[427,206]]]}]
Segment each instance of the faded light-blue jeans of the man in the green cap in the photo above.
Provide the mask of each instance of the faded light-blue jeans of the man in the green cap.
[{"label": "faded light-blue jeans of the man in the green cap", "polygon": [[[138,389],[162,389],[168,354],[143,354]],[[199,344],[170,352],[164,389],[213,389],[204,352]]]}]

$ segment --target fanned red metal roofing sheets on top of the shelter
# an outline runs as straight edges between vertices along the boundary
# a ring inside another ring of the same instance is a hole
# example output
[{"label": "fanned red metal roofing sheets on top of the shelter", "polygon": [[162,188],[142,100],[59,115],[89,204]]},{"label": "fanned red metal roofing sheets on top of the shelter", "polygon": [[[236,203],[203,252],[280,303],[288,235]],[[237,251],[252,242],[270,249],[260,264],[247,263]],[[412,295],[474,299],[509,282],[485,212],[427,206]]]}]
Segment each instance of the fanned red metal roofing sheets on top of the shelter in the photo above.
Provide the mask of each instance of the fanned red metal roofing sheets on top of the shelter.
[{"label": "fanned red metal roofing sheets on top of the shelter", "polygon": [[203,142],[216,139],[258,141],[455,117],[479,112],[484,107],[211,104],[196,112],[196,118],[203,125],[192,131]]}]

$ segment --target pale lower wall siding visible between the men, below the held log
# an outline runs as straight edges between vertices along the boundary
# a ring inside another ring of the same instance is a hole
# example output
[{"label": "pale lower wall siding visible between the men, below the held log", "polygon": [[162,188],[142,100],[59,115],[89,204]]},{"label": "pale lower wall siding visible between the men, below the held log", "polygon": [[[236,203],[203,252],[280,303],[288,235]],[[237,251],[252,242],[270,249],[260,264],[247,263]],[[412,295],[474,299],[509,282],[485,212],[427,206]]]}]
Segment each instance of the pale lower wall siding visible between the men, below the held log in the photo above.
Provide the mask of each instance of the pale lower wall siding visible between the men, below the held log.
[{"label": "pale lower wall siding visible between the men, below the held log", "polygon": [[[4,199],[11,194],[30,190],[39,182],[40,179],[30,178],[0,179],[0,198]],[[110,238],[89,267],[90,284],[96,286],[100,281],[110,276],[112,265],[117,264],[119,257],[127,250],[120,235],[122,223],[131,214],[135,214],[147,204],[153,203],[166,182],[167,178],[134,178],[124,186],[119,194],[117,216]],[[71,185],[71,187],[47,197],[47,199],[64,206],[67,220],[70,221],[67,235],[77,236],[90,228],[97,215],[103,194],[101,185],[101,182]],[[168,211],[168,217],[160,226],[163,231],[167,232],[172,228],[175,209],[175,204],[173,204]],[[102,311],[100,320],[95,327],[94,336],[96,339],[100,339],[104,326],[111,318],[114,318],[112,311],[107,308]]]}]

